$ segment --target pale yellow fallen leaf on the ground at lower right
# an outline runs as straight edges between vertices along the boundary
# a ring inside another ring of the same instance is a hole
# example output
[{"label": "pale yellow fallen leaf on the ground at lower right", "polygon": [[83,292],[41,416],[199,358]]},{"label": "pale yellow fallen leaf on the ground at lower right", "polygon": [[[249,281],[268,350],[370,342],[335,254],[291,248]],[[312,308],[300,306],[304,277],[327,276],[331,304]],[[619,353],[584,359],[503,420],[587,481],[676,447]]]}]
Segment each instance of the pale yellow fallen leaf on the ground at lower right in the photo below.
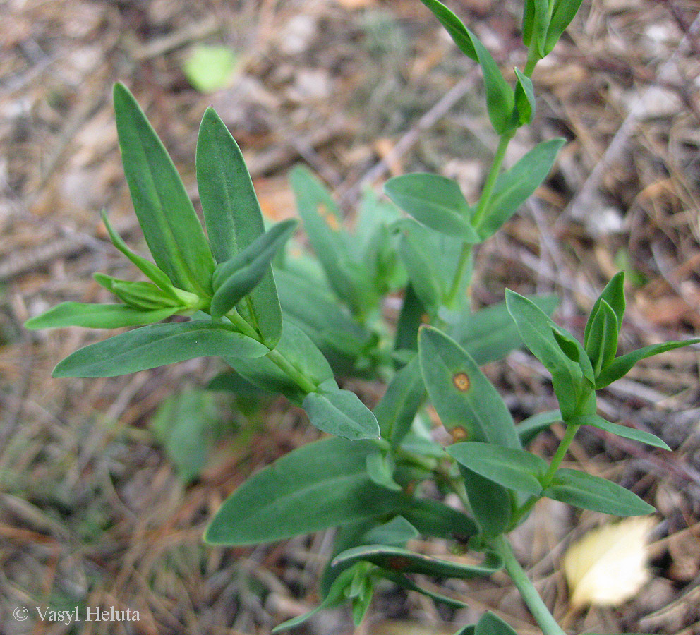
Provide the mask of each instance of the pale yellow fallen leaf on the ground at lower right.
[{"label": "pale yellow fallen leaf on the ground at lower right", "polygon": [[649,578],[646,538],[653,516],[604,525],[571,545],[562,566],[573,607],[618,606]]}]

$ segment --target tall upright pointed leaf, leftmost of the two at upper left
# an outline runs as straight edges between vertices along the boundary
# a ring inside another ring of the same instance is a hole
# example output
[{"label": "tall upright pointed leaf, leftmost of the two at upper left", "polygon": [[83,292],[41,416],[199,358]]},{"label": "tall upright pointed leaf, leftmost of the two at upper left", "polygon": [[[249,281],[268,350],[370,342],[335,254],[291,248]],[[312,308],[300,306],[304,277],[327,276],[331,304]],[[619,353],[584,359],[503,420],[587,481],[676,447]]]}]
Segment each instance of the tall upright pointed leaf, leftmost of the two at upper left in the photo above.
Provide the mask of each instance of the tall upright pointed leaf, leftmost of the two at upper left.
[{"label": "tall upright pointed leaf, leftmost of the two at upper left", "polygon": [[214,258],[163,144],[123,84],[114,85],[119,146],[134,210],[159,269],[175,286],[211,293]]}]

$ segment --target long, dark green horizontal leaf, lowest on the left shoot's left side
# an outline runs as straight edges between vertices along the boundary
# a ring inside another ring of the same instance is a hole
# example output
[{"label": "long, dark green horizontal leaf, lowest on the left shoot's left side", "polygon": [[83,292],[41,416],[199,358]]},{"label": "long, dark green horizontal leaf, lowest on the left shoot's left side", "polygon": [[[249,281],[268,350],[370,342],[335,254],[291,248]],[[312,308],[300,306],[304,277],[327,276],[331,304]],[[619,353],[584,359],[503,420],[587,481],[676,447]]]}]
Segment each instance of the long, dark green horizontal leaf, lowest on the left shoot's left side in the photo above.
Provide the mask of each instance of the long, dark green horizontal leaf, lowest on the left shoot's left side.
[{"label": "long, dark green horizontal leaf, lowest on the left shoot's left side", "polygon": [[267,346],[209,320],[155,324],[90,344],[61,361],[54,377],[115,377],[207,356],[258,357]]}]

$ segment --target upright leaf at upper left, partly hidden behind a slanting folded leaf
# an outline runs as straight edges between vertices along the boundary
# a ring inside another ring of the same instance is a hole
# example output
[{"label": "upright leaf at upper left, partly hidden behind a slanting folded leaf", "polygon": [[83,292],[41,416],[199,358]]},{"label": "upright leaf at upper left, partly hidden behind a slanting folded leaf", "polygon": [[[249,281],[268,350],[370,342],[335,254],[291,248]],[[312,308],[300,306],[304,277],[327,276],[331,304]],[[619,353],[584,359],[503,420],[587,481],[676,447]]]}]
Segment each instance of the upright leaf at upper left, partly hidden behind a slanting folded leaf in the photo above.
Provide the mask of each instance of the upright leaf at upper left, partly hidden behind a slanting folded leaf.
[{"label": "upright leaf at upper left, partly hidden behind a slanting folded leaf", "polygon": [[[197,183],[209,241],[217,262],[226,262],[265,231],[251,175],[231,133],[207,109],[197,139]],[[241,315],[271,348],[282,334],[282,310],[270,267],[241,305]]]}]

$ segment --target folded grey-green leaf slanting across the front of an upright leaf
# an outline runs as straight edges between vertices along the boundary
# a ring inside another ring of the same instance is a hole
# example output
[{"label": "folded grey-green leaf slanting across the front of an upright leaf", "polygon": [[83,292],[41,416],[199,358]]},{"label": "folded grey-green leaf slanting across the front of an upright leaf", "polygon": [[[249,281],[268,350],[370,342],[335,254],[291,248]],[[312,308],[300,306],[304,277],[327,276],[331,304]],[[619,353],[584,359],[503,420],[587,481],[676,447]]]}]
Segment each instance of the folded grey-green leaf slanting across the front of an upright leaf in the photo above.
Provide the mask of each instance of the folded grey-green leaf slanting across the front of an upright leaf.
[{"label": "folded grey-green leaf slanting across the front of an upright leaf", "polygon": [[212,279],[215,291],[211,304],[212,317],[222,317],[228,313],[260,284],[270,271],[272,258],[289,240],[297,225],[294,219],[277,223],[231,260],[217,266]]}]

